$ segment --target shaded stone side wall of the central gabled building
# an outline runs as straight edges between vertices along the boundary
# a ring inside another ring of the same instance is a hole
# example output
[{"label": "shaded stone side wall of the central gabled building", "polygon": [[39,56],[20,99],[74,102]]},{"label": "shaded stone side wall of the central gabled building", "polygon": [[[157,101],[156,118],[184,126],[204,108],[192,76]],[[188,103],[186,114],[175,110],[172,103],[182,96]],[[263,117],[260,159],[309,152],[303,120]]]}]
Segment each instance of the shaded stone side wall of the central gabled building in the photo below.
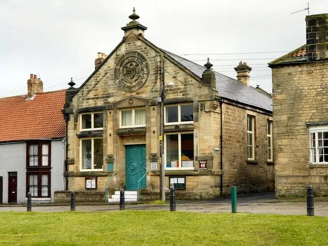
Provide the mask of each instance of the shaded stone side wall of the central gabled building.
[{"label": "shaded stone side wall of the central gabled building", "polygon": [[[247,115],[255,116],[255,161],[247,160]],[[274,163],[267,161],[267,120],[272,117],[227,103],[223,115],[223,187],[230,194],[232,186],[238,193],[274,190]]]}]

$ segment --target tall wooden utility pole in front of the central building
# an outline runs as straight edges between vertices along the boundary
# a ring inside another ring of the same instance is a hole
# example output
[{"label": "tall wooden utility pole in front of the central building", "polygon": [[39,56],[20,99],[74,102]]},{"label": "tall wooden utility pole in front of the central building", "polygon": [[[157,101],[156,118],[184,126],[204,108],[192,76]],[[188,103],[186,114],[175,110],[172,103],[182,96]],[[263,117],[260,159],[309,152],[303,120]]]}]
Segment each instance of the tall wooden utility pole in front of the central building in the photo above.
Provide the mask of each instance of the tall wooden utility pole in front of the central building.
[{"label": "tall wooden utility pole in front of the central building", "polygon": [[165,163],[164,163],[164,98],[165,98],[165,74],[163,54],[159,55],[159,93],[160,93],[160,111],[159,111],[159,158],[160,158],[160,197],[165,201]]}]

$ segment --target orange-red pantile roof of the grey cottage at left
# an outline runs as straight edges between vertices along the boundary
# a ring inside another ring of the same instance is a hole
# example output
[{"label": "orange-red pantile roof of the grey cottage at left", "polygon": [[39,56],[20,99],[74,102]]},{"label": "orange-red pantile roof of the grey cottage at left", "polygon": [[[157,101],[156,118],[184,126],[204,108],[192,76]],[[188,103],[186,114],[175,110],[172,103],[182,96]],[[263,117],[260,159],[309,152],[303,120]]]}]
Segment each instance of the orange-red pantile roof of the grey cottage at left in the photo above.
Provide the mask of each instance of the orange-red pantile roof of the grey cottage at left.
[{"label": "orange-red pantile roof of the grey cottage at left", "polygon": [[0,98],[0,142],[53,139],[65,136],[61,109],[66,91]]}]

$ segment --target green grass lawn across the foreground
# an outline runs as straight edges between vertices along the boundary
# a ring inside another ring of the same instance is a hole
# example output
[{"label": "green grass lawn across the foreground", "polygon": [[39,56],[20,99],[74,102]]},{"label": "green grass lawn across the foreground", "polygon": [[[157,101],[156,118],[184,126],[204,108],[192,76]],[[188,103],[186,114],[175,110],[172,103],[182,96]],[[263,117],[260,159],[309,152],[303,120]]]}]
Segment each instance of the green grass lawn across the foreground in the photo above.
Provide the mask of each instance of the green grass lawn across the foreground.
[{"label": "green grass lawn across the foreground", "polygon": [[0,213],[0,245],[327,245],[328,218],[165,211]]}]

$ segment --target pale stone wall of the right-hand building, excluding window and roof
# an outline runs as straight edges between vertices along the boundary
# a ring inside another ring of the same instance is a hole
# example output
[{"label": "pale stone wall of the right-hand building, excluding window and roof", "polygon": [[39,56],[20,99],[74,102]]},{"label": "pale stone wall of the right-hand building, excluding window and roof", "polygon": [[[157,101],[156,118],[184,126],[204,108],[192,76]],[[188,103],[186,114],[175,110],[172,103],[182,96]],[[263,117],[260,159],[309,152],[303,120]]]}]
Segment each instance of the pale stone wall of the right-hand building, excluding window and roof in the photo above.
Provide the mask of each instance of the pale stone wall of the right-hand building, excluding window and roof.
[{"label": "pale stone wall of the right-hand building, excluding window and roof", "polygon": [[307,185],[327,195],[328,166],[310,165],[305,122],[328,119],[328,62],[275,67],[272,77],[276,195],[304,195]]}]

